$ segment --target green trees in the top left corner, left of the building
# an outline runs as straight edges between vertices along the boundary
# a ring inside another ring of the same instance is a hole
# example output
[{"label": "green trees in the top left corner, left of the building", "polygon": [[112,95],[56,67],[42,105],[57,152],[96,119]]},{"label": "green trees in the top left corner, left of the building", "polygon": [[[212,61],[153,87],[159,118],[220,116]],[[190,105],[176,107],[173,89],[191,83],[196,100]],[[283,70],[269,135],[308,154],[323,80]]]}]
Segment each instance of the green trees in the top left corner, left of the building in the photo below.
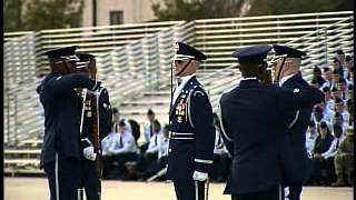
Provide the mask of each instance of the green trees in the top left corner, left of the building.
[{"label": "green trees in the top left corner, left of the building", "polygon": [[4,31],[38,31],[81,26],[83,0],[6,0]]}]

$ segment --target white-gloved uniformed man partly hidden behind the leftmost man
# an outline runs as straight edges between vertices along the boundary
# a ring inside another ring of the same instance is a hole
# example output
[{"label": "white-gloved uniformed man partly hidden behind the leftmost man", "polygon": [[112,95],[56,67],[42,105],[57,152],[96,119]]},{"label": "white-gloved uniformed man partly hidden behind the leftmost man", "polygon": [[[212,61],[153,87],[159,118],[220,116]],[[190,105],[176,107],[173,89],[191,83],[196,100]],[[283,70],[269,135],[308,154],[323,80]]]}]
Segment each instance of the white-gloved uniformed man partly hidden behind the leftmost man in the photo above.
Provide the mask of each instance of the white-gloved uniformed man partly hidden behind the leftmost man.
[{"label": "white-gloved uniformed man partly hidden behind the leftmost man", "polygon": [[[77,53],[79,62],[77,62],[77,68],[83,68],[83,71],[91,71],[91,68],[96,68],[95,56],[88,53]],[[112,128],[112,110],[109,101],[109,92],[106,88],[99,87],[97,90],[98,94],[98,107],[97,113],[99,114],[99,141],[101,141]],[[93,129],[93,108],[91,107],[91,98],[95,96],[92,92],[79,93],[85,102],[82,107],[82,119],[81,119],[81,148],[83,157],[81,158],[81,187],[86,191],[87,200],[99,200],[101,196],[101,182],[100,174],[96,170],[96,157],[98,152],[95,152],[93,143],[95,136],[92,133]],[[86,96],[86,97],[85,97]],[[100,148],[100,147],[99,147]]]}]

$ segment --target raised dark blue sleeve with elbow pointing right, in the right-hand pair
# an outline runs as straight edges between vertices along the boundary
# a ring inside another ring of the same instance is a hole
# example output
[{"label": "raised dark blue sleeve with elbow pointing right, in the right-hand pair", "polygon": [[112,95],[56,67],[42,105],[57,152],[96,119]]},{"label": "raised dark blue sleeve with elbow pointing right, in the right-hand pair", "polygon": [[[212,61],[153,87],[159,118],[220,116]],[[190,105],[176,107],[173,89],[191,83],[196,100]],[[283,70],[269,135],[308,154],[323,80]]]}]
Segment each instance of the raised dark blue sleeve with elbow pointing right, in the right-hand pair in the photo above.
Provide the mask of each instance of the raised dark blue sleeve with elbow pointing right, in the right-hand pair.
[{"label": "raised dark blue sleeve with elbow pointing right, in the right-hand pair", "polygon": [[295,89],[276,89],[278,90],[276,103],[280,111],[309,108],[324,100],[324,93],[319,89],[309,86]]}]

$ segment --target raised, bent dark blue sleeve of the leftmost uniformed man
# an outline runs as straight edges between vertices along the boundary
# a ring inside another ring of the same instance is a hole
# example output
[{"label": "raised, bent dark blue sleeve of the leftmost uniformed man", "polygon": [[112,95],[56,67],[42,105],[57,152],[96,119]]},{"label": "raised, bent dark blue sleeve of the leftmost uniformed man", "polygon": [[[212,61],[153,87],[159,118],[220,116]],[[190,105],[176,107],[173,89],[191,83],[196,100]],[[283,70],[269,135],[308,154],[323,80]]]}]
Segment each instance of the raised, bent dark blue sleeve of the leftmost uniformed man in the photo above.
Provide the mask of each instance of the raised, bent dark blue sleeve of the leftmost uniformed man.
[{"label": "raised, bent dark blue sleeve of the leftmost uniformed man", "polygon": [[52,78],[46,84],[47,92],[52,96],[60,96],[62,92],[73,88],[92,89],[96,87],[96,81],[90,79],[86,73],[70,73],[57,78]]}]

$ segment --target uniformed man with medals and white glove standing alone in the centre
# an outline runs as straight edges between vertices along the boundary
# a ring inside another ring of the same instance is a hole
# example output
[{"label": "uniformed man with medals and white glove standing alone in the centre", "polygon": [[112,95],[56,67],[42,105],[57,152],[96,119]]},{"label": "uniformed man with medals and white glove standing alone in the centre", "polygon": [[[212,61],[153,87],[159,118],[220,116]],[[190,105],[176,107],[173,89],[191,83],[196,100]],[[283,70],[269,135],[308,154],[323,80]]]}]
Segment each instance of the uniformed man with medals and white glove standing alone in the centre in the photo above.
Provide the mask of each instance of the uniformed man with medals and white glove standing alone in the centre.
[{"label": "uniformed man with medals and white glove standing alone in the centre", "polygon": [[169,110],[167,179],[174,181],[178,200],[202,200],[214,159],[215,127],[208,93],[195,72],[206,56],[176,43],[174,58],[178,86]]}]

